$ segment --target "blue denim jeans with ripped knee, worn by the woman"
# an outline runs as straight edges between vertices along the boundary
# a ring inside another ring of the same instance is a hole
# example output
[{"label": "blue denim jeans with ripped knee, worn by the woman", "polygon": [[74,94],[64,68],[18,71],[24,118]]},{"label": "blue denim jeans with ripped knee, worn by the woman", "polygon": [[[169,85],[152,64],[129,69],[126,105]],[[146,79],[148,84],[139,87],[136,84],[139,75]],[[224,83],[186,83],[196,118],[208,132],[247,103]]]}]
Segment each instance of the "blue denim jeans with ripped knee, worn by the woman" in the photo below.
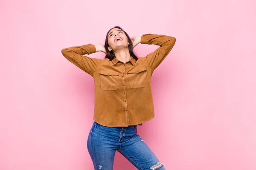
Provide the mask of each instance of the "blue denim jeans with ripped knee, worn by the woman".
[{"label": "blue denim jeans with ripped knee, worn by the woman", "polygon": [[137,125],[107,127],[93,122],[87,148],[94,170],[113,170],[116,150],[139,170],[165,170],[163,164],[137,134]]}]

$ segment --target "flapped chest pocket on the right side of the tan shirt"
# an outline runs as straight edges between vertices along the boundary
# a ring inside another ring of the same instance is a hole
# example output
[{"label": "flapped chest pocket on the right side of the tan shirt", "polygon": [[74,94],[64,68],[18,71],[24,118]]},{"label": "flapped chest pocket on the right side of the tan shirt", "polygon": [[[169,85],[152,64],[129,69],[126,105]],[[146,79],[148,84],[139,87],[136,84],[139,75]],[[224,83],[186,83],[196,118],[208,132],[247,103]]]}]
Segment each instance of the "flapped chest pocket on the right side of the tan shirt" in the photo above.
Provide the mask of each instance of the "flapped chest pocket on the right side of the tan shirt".
[{"label": "flapped chest pocket on the right side of the tan shirt", "polygon": [[144,88],[147,80],[147,68],[135,68],[127,72],[130,88]]}]

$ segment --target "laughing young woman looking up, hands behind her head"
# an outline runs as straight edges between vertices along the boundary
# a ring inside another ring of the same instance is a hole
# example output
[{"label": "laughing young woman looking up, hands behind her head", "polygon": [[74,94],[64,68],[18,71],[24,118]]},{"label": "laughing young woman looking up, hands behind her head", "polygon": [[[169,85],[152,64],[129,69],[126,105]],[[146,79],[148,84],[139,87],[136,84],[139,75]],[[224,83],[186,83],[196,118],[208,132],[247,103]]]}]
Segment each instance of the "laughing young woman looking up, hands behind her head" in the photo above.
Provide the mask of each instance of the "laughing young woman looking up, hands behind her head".
[{"label": "laughing young woman looking up, hands behind her head", "polygon": [[[115,26],[108,31],[105,45],[62,49],[64,57],[94,79],[94,122],[87,148],[95,170],[112,170],[116,150],[139,170],[165,170],[137,134],[137,125],[154,118],[151,76],[175,41],[175,37],[157,34],[130,38]],[[138,58],[133,48],[139,43],[160,47]],[[84,56],[97,51],[104,52],[105,59]]]}]

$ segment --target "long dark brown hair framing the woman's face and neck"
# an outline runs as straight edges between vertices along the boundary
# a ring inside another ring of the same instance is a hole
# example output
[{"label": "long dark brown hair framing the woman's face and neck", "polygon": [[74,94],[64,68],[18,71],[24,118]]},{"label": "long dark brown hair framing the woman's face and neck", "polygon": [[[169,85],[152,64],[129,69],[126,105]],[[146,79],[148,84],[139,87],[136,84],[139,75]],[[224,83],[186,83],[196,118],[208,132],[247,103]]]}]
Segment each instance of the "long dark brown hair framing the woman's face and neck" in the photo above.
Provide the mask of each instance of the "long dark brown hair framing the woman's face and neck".
[{"label": "long dark brown hair framing the woman's face and neck", "polygon": [[[119,26],[115,26],[115,27],[113,27],[113,28],[119,28],[120,30],[122,30],[124,33],[125,33],[125,35],[127,36],[127,39],[128,39],[128,42],[130,43],[130,45],[128,45],[128,49],[129,49],[129,53],[130,53],[130,56],[131,57],[133,57],[136,61],[137,61],[137,59],[138,59],[138,57],[134,54],[134,52],[133,52],[133,45],[132,45],[132,41],[131,41],[131,38],[128,36],[128,34],[121,28],[121,27],[119,27]],[[111,29],[113,29],[113,28],[111,28]],[[111,30],[110,29],[110,30]],[[110,31],[109,30],[109,31]],[[109,33],[109,31],[108,31],[108,33]],[[115,54],[114,54],[114,52],[113,52],[113,50],[111,50],[111,51],[108,51],[108,47],[109,47],[109,45],[108,45],[108,33],[107,33],[107,35],[106,35],[106,40],[105,40],[105,50],[106,50],[106,56],[105,56],[105,58],[108,58],[110,61],[112,60],[112,59],[114,59],[116,56],[115,56]]]}]

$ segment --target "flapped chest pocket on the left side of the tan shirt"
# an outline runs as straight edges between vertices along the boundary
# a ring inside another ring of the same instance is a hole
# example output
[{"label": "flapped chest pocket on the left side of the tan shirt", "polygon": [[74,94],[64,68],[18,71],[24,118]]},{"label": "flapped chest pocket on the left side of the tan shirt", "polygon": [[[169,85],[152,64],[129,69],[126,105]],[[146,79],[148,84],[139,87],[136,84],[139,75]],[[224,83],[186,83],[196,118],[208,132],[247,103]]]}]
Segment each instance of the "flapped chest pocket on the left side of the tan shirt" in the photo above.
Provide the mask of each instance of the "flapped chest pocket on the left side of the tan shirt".
[{"label": "flapped chest pocket on the left side of the tan shirt", "polygon": [[117,90],[119,74],[108,70],[99,70],[99,79],[102,90]]}]

